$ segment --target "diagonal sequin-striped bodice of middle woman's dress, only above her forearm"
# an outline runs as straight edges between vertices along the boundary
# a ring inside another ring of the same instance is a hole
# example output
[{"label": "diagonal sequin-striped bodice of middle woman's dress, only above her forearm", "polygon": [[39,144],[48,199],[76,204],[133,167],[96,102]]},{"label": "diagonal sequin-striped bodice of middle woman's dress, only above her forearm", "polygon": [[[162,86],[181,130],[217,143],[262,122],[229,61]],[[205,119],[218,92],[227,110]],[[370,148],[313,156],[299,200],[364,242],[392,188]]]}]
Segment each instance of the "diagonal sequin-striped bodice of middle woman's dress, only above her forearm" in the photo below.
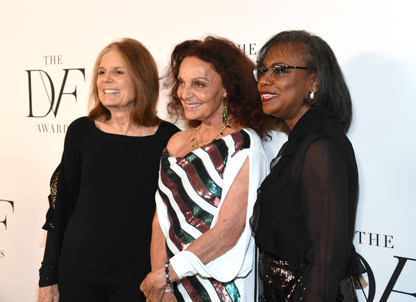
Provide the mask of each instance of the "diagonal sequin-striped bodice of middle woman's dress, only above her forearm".
[{"label": "diagonal sequin-striped bodice of middle woman's dress, only above her forearm", "polygon": [[211,226],[214,217],[211,213],[216,213],[220,202],[228,154],[234,155],[244,148],[244,141],[250,143],[248,134],[235,132],[185,157],[168,157],[165,150],[159,193],[168,207],[172,242],[180,251],[200,235],[184,231],[189,229],[187,224],[200,233],[205,233]]}]

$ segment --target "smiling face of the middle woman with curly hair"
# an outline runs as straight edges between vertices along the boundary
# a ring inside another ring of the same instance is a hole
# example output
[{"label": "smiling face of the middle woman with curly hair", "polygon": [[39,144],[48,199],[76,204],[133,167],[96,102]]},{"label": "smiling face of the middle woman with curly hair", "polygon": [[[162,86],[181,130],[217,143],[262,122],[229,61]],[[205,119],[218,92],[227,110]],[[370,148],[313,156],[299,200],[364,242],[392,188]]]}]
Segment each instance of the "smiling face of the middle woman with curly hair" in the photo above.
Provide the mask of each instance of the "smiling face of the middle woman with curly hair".
[{"label": "smiling face of the middle woman with curly hair", "polygon": [[227,95],[214,67],[197,57],[185,57],[177,75],[177,97],[185,117],[205,123],[222,123],[223,97]]}]

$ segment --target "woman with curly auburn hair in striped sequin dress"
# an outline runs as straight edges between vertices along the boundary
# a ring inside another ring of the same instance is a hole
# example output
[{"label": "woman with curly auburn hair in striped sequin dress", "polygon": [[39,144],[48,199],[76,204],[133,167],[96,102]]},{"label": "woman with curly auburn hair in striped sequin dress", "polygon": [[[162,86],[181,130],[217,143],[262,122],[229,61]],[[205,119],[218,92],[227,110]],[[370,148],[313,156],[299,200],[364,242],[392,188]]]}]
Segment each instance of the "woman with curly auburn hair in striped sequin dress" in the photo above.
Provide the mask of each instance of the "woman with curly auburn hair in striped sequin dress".
[{"label": "woman with curly auburn hair in striped sequin dress", "polygon": [[223,38],[173,50],[168,110],[193,128],[172,136],[162,154],[152,272],[141,284],[148,301],[254,299],[248,219],[268,161],[253,67]]}]

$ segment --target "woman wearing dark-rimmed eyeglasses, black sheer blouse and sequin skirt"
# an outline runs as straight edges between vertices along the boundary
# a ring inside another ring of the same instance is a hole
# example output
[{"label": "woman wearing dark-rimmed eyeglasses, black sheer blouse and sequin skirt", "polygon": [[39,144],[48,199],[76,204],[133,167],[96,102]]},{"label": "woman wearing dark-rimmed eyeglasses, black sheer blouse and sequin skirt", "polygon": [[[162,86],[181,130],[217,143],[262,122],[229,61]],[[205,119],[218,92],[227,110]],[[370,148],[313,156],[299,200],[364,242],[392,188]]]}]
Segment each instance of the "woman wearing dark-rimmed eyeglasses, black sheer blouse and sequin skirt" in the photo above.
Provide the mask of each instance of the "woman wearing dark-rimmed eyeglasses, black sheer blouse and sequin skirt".
[{"label": "woman wearing dark-rimmed eyeglasses, black sheer blouse and sequin skirt", "polygon": [[358,301],[351,278],[364,272],[352,244],[358,170],[340,66],[329,45],[304,30],[272,37],[257,66],[263,112],[291,130],[251,219],[260,301]]}]

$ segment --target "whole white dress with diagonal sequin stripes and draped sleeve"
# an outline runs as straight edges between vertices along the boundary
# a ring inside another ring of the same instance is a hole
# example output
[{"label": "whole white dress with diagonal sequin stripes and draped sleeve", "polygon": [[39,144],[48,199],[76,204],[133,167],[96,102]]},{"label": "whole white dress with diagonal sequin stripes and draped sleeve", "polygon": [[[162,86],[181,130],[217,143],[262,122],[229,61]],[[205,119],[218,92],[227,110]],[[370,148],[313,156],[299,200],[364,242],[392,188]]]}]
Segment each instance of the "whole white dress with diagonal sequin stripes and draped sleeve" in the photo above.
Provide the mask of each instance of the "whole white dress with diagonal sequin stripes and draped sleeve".
[{"label": "whole white dress with diagonal sequin stripes and draped sleeve", "polygon": [[[243,234],[235,247],[204,265],[186,249],[214,227],[225,196],[247,158],[250,183]],[[250,129],[224,136],[184,157],[170,157],[164,150],[157,215],[166,236],[166,252],[181,279],[174,290],[178,301],[253,301],[254,240],[248,219],[267,166],[261,140]]]}]

